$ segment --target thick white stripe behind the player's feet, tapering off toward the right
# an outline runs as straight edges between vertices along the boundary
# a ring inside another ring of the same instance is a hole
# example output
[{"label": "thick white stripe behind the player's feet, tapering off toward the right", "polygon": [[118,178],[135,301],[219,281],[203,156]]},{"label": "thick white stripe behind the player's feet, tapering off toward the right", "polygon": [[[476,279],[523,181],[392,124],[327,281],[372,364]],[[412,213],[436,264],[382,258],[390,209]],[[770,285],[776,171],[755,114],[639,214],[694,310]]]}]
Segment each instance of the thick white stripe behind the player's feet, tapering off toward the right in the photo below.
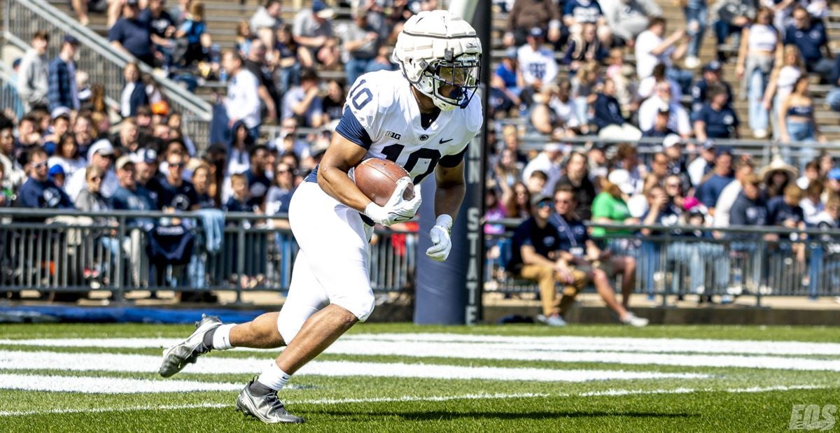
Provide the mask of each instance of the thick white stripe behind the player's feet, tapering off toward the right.
[{"label": "thick white stripe behind the player's feet, tapering off toward the right", "polygon": [[[184,372],[210,374],[258,373],[272,362],[270,358],[213,357],[202,359],[196,364],[187,365]],[[0,351],[0,370],[66,369],[72,371],[155,373],[159,367],[160,357],[153,355]],[[465,367],[423,363],[354,363],[346,361],[313,361],[304,366],[297,374],[381,378],[532,380],[538,382],[708,377],[706,374],[695,373]],[[0,389],[3,387],[3,381],[0,381]]]}]

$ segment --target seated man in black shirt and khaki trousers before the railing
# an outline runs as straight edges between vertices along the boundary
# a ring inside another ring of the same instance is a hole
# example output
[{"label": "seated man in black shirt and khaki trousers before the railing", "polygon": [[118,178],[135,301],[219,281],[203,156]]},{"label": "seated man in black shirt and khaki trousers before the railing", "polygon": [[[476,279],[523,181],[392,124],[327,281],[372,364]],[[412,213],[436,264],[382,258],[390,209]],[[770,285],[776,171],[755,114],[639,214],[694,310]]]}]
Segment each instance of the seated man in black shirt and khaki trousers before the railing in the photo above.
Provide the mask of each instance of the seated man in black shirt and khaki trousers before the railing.
[{"label": "seated man in black shirt and khaki trousers before the railing", "polygon": [[557,256],[560,238],[557,227],[549,224],[551,197],[535,194],[531,205],[532,216],[513,233],[513,254],[508,269],[522,279],[537,281],[543,302],[543,316],[539,318],[549,326],[564,326],[554,284],[570,284],[574,286],[570,290],[576,293],[583,290],[588,280],[584,272],[573,271]]}]

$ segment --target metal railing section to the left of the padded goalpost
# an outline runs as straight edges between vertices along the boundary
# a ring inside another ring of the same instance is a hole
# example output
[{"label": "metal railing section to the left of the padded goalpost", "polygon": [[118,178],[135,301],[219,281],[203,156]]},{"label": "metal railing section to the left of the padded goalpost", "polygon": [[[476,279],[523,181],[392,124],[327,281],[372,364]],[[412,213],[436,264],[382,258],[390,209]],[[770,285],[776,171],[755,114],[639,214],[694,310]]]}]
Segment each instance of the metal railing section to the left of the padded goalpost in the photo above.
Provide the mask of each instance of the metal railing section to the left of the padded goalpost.
[{"label": "metal railing section to the left of the padded goalpost", "polygon": [[[233,290],[240,301],[244,290],[288,290],[297,254],[285,219],[249,213],[223,214],[220,233],[201,211],[7,208],[0,221],[0,292],[111,290],[122,300],[132,290]],[[416,244],[417,233],[375,232],[374,290],[412,288]]]}]

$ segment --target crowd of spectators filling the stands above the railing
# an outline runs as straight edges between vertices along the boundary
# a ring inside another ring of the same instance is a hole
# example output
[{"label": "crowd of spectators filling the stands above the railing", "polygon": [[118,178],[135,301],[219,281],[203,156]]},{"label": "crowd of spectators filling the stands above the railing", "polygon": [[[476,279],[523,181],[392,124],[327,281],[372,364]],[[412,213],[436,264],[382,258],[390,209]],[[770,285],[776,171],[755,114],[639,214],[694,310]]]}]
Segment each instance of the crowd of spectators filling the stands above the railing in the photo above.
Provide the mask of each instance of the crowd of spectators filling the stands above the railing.
[{"label": "crowd of spectators filling the stands above the railing", "polygon": [[[181,114],[139,63],[125,66],[118,107],[108,107],[102,86],[76,68],[76,56],[85,55],[79,41],[65,37],[48,59],[49,34],[38,32],[15,66],[23,114],[7,112],[0,122],[2,206],[283,213],[327,149],[349,86],[365,72],[395,69],[390,47],[402,22],[440,6],[314,0],[286,23],[283,2],[267,0],[239,23],[234,46],[219,47],[200,0],[171,9],[163,0],[73,5],[81,23],[89,11],[107,13],[108,39],[138,62],[191,88],[189,76],[227,86],[216,97],[209,142],[186,135]],[[584,222],[840,227],[840,168],[831,155],[796,144],[825,139],[812,82],[834,87],[826,103],[840,112],[840,58],[828,50],[826,2],[680,5],[685,24],[669,23],[653,0],[494,2],[507,24],[504,55],[485,61],[494,119],[488,220],[533,218],[544,201],[533,197],[545,196],[555,200],[554,216]],[[340,19],[336,6],[349,7],[349,18]],[[701,65],[710,25],[717,53]],[[740,82],[724,79],[727,65]],[[737,98],[748,101],[747,122],[738,118]],[[260,138],[270,123],[279,134]],[[773,139],[773,164],[755,167],[718,144],[748,138],[743,123],[753,138]],[[548,144],[521,149],[534,134]],[[591,140],[585,153],[564,144],[593,135],[607,143]],[[574,208],[558,194],[573,196]],[[580,276],[596,286],[600,278]],[[546,320],[557,308],[546,307]]]}]

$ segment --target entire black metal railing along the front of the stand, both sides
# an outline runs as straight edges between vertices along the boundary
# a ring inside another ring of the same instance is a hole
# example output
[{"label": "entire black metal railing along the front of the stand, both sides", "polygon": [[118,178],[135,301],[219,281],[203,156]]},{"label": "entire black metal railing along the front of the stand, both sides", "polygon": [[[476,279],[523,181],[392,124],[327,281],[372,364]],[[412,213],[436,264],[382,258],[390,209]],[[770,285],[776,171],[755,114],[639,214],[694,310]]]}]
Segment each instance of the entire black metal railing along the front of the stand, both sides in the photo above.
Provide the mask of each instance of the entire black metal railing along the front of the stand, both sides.
[{"label": "entire black metal railing along the front of the stand, both sides", "polygon": [[[134,290],[246,290],[285,292],[297,243],[286,219],[223,214],[213,235],[204,213],[101,213],[6,208],[0,210],[0,292],[110,290],[115,299]],[[538,292],[507,264],[516,220],[486,236],[485,290]],[[157,229],[152,229],[159,227]],[[160,228],[162,227],[162,228]],[[636,263],[634,290],[666,295],[840,295],[840,230],[782,227],[664,227],[602,225],[597,238],[613,257]],[[639,236],[641,229],[653,233]],[[620,230],[621,232],[617,232]],[[189,240],[181,245],[184,237]],[[209,239],[209,237],[215,237]],[[217,242],[221,241],[221,244]],[[162,255],[160,245],[181,245]],[[215,245],[215,247],[214,247]],[[417,232],[382,230],[370,243],[370,282],[376,291],[413,289]],[[602,260],[609,269],[610,260]]]}]

